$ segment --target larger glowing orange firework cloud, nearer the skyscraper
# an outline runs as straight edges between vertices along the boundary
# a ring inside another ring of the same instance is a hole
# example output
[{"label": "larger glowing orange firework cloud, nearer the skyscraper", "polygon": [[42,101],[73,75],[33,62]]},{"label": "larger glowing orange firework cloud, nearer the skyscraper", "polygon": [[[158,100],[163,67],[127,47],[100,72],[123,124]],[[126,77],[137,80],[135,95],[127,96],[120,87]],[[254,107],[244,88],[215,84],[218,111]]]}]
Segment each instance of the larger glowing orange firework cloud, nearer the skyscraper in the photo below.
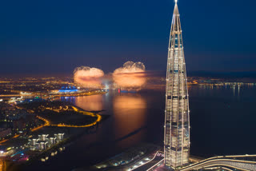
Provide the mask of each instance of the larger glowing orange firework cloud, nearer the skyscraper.
[{"label": "larger glowing orange firework cloud, nearer the skyscraper", "polygon": [[113,80],[122,88],[138,88],[146,82],[145,66],[142,62],[126,62],[114,70]]}]

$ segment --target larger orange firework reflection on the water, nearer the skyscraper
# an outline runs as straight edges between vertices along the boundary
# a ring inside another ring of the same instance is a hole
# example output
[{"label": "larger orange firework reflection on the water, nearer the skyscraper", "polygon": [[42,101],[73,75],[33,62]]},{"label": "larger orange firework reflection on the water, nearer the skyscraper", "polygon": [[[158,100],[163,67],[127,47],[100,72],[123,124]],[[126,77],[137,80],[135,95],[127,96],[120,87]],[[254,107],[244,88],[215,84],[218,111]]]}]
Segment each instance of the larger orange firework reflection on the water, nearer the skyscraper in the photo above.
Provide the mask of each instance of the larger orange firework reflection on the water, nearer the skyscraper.
[{"label": "larger orange firework reflection on the water, nearer the skyscraper", "polygon": [[114,97],[115,136],[123,137],[141,129],[146,122],[146,100],[139,94],[122,94]]}]

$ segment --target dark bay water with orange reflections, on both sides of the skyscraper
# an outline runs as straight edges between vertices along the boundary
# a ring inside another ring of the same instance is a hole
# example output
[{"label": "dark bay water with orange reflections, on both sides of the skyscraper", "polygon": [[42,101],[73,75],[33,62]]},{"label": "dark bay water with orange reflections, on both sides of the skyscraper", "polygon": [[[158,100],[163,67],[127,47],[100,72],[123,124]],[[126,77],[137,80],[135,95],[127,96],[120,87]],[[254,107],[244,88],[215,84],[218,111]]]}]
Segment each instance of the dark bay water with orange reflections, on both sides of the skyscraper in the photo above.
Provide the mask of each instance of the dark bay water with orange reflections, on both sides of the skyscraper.
[{"label": "dark bay water with orange reflections, on both sides of the skyscraper", "polygon": [[[256,153],[253,133],[255,87],[190,86],[191,154],[211,157]],[[110,114],[95,133],[84,134],[49,161],[26,170],[71,170],[94,165],[140,142],[163,145],[165,93],[115,91],[90,97],[66,97],[85,110]],[[203,137],[203,138],[202,138]]]}]

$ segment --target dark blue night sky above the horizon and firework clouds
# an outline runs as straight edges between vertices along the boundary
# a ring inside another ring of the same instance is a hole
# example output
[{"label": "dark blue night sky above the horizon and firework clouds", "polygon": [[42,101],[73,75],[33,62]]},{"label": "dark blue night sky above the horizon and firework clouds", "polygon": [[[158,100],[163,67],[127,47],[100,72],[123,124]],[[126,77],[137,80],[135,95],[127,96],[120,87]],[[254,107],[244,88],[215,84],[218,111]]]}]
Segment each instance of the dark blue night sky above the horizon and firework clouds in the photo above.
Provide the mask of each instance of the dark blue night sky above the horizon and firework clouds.
[{"label": "dark blue night sky above the horizon and firework clouds", "polygon": [[[256,70],[256,1],[179,0],[187,70]],[[106,73],[128,60],[166,70],[174,0],[0,3],[0,74]]]}]

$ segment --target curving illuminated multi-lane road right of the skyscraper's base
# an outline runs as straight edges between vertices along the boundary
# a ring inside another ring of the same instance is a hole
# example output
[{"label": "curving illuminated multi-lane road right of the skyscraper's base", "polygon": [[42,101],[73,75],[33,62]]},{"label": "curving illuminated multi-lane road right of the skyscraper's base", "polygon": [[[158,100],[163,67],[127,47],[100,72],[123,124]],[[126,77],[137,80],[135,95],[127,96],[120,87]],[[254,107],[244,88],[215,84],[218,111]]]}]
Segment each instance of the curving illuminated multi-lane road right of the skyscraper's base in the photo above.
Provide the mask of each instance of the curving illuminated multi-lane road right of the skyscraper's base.
[{"label": "curving illuminated multi-lane road right of the skyscraper's base", "polygon": [[[194,169],[212,168],[212,167],[226,167],[231,169],[238,169],[244,171],[256,171],[256,155],[239,155],[239,156],[220,156],[211,157],[198,163],[186,166],[180,171],[189,171]],[[246,160],[245,160],[246,159]]]}]

